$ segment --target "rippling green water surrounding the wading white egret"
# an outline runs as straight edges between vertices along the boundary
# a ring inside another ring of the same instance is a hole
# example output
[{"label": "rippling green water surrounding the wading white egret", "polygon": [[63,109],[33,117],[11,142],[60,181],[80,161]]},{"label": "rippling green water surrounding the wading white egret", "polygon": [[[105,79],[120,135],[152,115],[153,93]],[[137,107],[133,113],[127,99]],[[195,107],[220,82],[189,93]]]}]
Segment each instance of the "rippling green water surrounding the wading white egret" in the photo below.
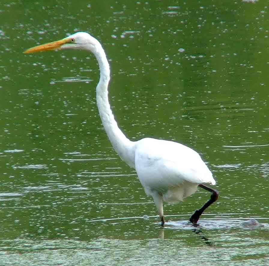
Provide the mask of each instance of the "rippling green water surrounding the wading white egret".
[{"label": "rippling green water surrounding the wading white egret", "polygon": [[[268,15],[254,0],[2,1],[0,264],[267,264]],[[201,228],[187,220],[204,191],[165,205],[160,227],[102,128],[92,55],[22,53],[76,31],[103,44],[125,134],[176,140],[208,163],[220,197]]]}]

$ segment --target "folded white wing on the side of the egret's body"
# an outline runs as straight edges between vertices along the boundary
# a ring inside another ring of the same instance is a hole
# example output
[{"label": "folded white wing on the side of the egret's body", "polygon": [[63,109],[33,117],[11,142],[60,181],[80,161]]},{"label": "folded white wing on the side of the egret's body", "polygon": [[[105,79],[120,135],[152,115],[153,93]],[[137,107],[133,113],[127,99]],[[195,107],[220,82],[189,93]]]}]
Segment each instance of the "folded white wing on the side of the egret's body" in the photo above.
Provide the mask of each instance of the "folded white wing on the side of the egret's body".
[{"label": "folded white wing on the side of the egret's body", "polygon": [[184,182],[216,183],[199,154],[177,142],[142,139],[135,153],[135,169],[146,188],[166,190]]}]

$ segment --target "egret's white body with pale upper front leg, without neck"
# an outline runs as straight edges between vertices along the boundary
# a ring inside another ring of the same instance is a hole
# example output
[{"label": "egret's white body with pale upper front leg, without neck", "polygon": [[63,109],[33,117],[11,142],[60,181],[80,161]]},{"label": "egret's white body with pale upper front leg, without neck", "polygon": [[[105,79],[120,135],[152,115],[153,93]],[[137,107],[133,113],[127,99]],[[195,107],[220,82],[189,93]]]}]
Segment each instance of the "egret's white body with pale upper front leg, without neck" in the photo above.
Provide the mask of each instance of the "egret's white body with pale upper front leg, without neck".
[{"label": "egret's white body with pale upper front leg, without neck", "polygon": [[177,142],[145,138],[135,149],[135,170],[159,215],[162,201],[177,204],[197,190],[201,183],[216,183],[199,154]]}]

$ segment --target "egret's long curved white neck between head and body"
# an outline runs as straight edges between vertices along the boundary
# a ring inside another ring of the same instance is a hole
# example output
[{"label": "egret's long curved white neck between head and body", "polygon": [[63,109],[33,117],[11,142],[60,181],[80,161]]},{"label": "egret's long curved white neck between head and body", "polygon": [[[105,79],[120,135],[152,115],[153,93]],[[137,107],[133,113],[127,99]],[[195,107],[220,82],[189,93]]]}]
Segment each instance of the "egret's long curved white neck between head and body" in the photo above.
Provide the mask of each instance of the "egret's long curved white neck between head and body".
[{"label": "egret's long curved white neck between head and body", "polygon": [[94,55],[98,61],[100,68],[100,80],[96,87],[96,102],[104,130],[106,131],[113,148],[117,154],[119,154],[119,157],[129,166],[135,167],[135,142],[130,141],[122,133],[110,109],[110,104],[108,101],[108,83],[110,80],[110,69],[105,52],[99,42],[95,47]]}]

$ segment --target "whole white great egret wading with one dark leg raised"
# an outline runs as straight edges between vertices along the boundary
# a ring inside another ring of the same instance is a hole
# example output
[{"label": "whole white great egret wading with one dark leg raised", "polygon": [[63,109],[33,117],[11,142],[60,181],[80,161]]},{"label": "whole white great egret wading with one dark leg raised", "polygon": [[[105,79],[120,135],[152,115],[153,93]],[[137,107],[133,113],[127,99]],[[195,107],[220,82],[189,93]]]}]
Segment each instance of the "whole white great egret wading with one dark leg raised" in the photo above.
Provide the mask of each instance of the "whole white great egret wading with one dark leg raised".
[{"label": "whole white great egret wading with one dark leg raised", "polygon": [[153,138],[131,141],[122,133],[108,101],[110,69],[104,49],[88,33],[77,32],[62,40],[32,47],[24,53],[63,49],[82,49],[95,55],[100,68],[96,102],[104,129],[119,157],[135,168],[146,194],[153,197],[162,226],[165,224],[163,201],[176,204],[193,194],[198,186],[212,192],[210,199],[189,219],[196,225],[200,215],[219,196],[216,190],[202,184],[215,185],[216,181],[199,154],[177,142]]}]

